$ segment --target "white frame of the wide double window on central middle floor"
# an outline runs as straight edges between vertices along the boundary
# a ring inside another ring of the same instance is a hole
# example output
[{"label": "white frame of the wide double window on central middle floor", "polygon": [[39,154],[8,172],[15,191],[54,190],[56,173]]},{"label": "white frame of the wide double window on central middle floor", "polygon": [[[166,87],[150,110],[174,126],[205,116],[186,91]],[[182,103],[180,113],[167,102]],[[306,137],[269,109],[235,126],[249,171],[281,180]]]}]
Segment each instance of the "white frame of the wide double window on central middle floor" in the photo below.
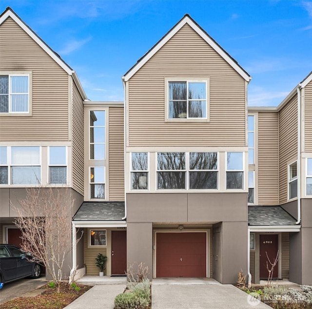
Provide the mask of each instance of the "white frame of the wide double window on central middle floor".
[{"label": "white frame of the wide double window on central middle floor", "polygon": [[[184,153],[185,154],[185,169],[184,170],[158,170],[158,153]],[[190,153],[216,153],[217,155],[217,169],[216,170],[191,170],[190,169]],[[192,191],[192,192],[216,192],[219,191],[219,182],[220,182],[220,164],[219,164],[219,152],[218,151],[159,151],[156,152],[155,155],[155,186],[156,191],[158,192],[176,192],[176,191]],[[184,189],[159,189],[158,181],[157,181],[157,173],[158,172],[184,172],[185,173],[185,188]],[[216,181],[216,189],[190,189],[190,172],[216,172],[217,173],[217,181]]]}]

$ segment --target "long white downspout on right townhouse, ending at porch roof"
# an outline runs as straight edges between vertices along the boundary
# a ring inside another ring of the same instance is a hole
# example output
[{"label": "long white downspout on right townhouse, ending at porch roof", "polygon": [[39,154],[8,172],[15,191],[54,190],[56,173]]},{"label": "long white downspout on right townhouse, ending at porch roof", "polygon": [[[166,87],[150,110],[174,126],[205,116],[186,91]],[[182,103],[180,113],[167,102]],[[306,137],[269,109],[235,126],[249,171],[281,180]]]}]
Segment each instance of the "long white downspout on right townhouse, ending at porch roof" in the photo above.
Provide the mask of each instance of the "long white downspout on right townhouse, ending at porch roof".
[{"label": "long white downspout on right townhouse, ending at porch roof", "polygon": [[301,221],[301,84],[298,85],[297,88],[297,117],[298,117],[298,125],[297,125],[297,196],[298,196],[298,219],[296,224],[299,224]]}]

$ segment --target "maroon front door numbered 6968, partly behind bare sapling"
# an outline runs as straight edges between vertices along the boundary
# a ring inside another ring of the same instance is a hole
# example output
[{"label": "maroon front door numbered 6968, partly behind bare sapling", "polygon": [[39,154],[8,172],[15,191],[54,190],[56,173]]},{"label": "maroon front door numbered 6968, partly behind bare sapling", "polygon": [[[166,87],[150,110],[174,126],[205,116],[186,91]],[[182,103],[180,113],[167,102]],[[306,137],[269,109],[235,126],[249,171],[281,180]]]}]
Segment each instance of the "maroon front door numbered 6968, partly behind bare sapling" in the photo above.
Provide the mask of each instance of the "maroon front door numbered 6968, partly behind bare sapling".
[{"label": "maroon front door numbered 6968, partly behind bare sapling", "polygon": [[[276,258],[277,250],[278,250],[278,235],[276,234],[260,234],[260,279],[268,279],[269,271],[267,270],[267,262],[268,267],[271,270],[271,264],[267,258],[273,263]],[[267,252],[267,254],[266,254]],[[273,277],[278,278],[278,262],[273,270]]]}]

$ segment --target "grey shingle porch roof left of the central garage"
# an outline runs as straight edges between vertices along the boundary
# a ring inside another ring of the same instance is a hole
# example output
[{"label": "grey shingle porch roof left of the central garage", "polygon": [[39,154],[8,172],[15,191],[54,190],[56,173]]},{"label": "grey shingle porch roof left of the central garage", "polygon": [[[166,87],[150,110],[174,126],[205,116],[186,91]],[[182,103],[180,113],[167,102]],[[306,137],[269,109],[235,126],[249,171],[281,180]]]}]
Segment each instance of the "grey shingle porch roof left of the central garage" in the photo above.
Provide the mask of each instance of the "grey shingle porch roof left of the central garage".
[{"label": "grey shingle porch roof left of the central garage", "polygon": [[83,202],[73,221],[122,221],[124,202]]}]

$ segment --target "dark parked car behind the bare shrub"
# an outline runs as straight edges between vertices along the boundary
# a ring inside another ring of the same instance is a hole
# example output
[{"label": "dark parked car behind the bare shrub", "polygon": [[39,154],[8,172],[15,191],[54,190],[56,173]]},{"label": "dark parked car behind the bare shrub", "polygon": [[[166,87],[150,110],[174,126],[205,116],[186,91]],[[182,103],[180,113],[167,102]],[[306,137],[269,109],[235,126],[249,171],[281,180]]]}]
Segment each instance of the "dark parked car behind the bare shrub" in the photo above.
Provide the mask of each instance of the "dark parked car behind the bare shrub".
[{"label": "dark parked car behind the bare shrub", "polygon": [[30,261],[31,255],[19,247],[7,244],[0,245],[0,289],[4,283],[25,277],[38,278],[40,265]]}]

